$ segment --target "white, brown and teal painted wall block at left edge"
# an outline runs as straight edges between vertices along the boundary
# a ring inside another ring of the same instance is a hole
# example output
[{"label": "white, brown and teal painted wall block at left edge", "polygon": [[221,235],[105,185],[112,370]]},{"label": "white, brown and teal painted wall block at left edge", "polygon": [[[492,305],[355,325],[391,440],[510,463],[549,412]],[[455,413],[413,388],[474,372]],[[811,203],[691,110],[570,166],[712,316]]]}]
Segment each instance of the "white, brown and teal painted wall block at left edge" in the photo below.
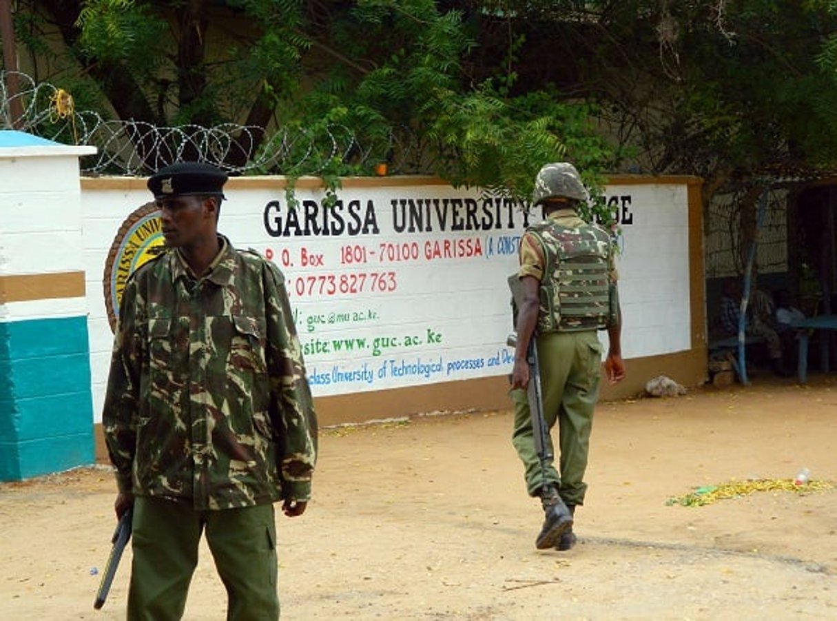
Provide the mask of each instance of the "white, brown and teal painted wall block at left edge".
[{"label": "white, brown and teal painted wall block at left edge", "polygon": [[93,460],[81,155],[0,131],[0,480]]}]

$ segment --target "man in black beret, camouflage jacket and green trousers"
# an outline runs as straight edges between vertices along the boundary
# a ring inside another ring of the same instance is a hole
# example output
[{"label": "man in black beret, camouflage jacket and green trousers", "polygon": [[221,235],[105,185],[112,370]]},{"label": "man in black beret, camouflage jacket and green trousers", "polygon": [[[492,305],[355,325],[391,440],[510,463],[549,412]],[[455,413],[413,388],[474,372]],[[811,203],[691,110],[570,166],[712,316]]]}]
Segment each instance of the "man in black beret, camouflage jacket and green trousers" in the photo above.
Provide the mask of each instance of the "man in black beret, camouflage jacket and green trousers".
[{"label": "man in black beret, camouflage jacket and green trousers", "polygon": [[228,619],[279,618],[275,514],[311,497],[317,427],[274,264],[217,233],[227,176],[184,162],[148,181],[167,251],[122,294],[102,423],[133,507],[129,619],[181,618],[206,531]]}]

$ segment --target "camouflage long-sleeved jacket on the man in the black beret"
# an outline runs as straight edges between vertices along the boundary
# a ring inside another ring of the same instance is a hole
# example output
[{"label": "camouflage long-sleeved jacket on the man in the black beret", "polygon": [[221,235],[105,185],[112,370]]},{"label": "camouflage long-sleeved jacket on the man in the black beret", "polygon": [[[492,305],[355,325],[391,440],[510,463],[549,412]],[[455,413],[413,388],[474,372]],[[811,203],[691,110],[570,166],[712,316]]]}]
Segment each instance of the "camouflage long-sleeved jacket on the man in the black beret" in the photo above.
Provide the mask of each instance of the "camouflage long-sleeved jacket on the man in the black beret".
[{"label": "camouflage long-sleeved jacket on the man in the black beret", "polygon": [[127,281],[102,423],[121,491],[228,509],[308,500],[317,424],[285,279],[223,249],[177,250]]}]

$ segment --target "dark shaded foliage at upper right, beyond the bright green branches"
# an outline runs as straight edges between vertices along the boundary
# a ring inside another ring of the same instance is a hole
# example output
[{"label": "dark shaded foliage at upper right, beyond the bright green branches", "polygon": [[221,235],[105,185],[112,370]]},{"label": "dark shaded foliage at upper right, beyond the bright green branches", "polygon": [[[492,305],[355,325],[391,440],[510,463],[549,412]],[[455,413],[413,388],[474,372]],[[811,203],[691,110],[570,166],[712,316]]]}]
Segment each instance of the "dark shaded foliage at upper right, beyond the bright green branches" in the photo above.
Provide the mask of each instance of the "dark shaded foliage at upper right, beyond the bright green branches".
[{"label": "dark shaded foliage at upper right, beyond the bright green branches", "polygon": [[833,1],[483,4],[526,33],[527,90],[546,74],[598,103],[623,169],[715,183],[834,164]]}]

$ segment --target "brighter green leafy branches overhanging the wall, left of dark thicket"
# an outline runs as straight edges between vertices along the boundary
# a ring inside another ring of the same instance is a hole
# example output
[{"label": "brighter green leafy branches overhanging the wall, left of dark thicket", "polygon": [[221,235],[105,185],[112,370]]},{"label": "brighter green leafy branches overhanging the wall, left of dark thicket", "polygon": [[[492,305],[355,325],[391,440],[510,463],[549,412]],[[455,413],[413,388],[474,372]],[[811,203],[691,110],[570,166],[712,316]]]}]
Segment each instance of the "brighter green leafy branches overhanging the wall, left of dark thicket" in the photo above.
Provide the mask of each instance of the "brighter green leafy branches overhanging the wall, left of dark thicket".
[{"label": "brighter green leafy branches overhanging the wall, left of dark thicket", "polygon": [[[316,172],[333,183],[342,174],[371,174],[375,162],[398,161],[393,172],[434,173],[525,199],[545,162],[583,160],[591,181],[610,164],[583,100],[512,94],[513,73],[488,68],[477,78],[470,71],[479,32],[464,6],[28,4],[59,25],[82,72],[100,85],[101,110],[157,125],[299,127],[321,145],[302,168],[265,172]],[[365,151],[335,154],[335,128],[357,136]],[[394,157],[408,144],[414,157]],[[299,148],[311,149],[301,141]]]}]

